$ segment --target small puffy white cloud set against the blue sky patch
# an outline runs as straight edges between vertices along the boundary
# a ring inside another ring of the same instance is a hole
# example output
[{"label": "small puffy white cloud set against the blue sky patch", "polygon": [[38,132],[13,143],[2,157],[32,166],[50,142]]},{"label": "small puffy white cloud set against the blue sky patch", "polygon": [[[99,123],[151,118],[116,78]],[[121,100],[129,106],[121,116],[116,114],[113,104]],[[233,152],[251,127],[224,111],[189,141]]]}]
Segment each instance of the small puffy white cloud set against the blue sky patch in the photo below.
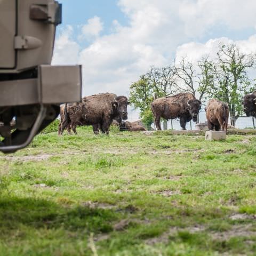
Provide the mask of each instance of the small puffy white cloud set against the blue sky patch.
[{"label": "small puffy white cloud set against the blue sky patch", "polygon": [[84,38],[91,38],[99,36],[103,30],[103,23],[100,18],[94,16],[87,21],[87,24],[82,27],[82,34]]}]

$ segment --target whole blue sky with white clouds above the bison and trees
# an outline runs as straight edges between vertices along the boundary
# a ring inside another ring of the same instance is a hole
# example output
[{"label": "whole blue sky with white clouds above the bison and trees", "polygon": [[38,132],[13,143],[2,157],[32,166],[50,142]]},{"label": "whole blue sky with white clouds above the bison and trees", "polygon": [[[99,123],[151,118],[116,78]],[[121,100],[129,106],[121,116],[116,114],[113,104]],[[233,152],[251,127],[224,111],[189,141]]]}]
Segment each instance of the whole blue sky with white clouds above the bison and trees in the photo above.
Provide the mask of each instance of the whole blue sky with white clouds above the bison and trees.
[{"label": "whole blue sky with white clouds above the bison and trees", "polygon": [[59,0],[53,65],[83,65],[83,95],[129,95],[151,66],[215,56],[236,43],[256,52],[255,0]]}]

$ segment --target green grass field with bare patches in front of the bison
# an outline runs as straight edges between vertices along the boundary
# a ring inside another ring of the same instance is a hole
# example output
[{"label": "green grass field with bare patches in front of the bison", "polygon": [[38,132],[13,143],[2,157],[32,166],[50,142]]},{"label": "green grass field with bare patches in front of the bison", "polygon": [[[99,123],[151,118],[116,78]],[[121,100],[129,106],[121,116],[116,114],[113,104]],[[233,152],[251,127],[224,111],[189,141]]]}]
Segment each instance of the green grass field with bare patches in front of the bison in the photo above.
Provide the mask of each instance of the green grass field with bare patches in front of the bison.
[{"label": "green grass field with bare patches in front of the bison", "polygon": [[256,135],[40,134],[0,155],[0,255],[256,255]]}]

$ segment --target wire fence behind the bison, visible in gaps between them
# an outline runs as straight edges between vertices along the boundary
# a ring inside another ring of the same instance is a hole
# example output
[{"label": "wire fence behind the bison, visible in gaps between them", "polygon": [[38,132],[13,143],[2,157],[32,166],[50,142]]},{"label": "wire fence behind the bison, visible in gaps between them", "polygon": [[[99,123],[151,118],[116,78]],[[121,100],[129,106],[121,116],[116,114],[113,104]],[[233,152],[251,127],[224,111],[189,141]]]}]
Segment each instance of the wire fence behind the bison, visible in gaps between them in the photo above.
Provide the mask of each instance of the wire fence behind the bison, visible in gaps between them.
[{"label": "wire fence behind the bison, visible in gaps between them", "polygon": [[[154,123],[143,123],[139,119],[139,112],[138,111],[132,111],[132,113],[129,113],[129,119],[128,121],[130,123],[138,124],[146,128],[146,130],[156,130]],[[253,117],[247,117],[247,116],[239,116],[236,120],[235,126],[231,126],[231,121],[229,117],[228,121],[228,128],[235,128],[235,129],[256,129],[256,120]],[[127,127],[125,124],[120,125],[121,129],[125,130]],[[164,120],[161,121],[161,129],[162,130],[182,130],[179,122],[179,118],[177,119],[169,119],[167,122],[164,122]],[[187,130],[207,130],[207,120],[205,116],[205,111],[201,111],[198,115],[198,121],[193,122],[190,121],[186,125]]]}]

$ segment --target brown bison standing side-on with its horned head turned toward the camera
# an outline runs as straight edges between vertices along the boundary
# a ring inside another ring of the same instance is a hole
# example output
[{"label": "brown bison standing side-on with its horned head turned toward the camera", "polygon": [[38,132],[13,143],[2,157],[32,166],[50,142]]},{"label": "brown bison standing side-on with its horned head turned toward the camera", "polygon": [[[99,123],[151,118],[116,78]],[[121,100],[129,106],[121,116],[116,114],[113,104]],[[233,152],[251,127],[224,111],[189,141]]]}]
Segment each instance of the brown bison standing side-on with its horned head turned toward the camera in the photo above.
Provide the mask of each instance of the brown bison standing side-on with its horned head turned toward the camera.
[{"label": "brown bison standing side-on with its horned head turned toward the camera", "polygon": [[155,117],[157,130],[161,130],[160,118],[180,118],[182,130],[186,130],[187,122],[193,119],[197,121],[197,115],[201,109],[202,102],[197,100],[192,93],[178,93],[173,96],[159,98],[151,102],[151,110]]}]

